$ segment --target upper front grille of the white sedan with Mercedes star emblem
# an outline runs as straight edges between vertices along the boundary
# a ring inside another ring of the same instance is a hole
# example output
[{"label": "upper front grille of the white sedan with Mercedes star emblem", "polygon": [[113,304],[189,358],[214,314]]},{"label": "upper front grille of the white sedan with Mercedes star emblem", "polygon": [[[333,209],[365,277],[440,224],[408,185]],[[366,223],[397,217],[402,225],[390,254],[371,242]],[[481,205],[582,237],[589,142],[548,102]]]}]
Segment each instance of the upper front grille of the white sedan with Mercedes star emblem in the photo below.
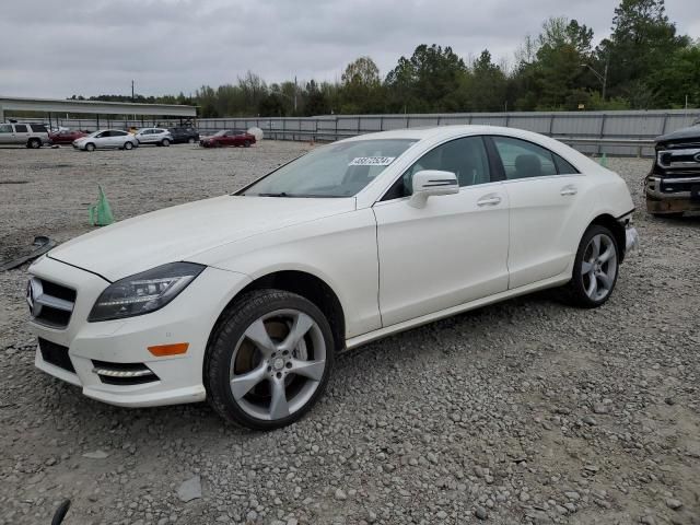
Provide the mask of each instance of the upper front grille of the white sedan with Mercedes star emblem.
[{"label": "upper front grille of the white sedan with Mercedes star emblem", "polygon": [[51,328],[66,328],[75,304],[75,290],[33,277],[26,291],[32,317]]}]

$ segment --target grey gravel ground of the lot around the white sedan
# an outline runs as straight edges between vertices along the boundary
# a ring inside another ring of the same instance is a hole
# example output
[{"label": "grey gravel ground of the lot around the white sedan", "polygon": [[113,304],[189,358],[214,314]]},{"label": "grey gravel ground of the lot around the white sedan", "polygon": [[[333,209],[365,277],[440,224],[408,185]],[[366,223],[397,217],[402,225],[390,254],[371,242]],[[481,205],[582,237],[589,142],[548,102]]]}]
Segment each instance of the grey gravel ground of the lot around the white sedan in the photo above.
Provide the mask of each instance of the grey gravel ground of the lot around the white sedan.
[{"label": "grey gravel ground of the lot around the white sedan", "polygon": [[[97,183],[124,219],[307,148],[0,149],[0,247],[88,231]],[[700,219],[651,218],[649,161],[609,163],[643,247],[603,308],[540,293],[348,352],[303,421],[265,434],[35,371],[26,268],[0,273],[0,524],[49,523],[66,498],[66,524],[700,524]]]}]

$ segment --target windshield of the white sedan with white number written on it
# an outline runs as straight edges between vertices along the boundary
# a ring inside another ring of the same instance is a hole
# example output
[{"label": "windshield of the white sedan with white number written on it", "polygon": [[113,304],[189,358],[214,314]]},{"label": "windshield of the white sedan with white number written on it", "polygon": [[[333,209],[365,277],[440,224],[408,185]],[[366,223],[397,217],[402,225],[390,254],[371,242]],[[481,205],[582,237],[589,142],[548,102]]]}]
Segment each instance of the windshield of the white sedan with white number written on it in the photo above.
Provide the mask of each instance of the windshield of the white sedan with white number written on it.
[{"label": "windshield of the white sedan with white number written on it", "polygon": [[270,173],[240,195],[352,197],[416,142],[376,139],[324,145]]}]

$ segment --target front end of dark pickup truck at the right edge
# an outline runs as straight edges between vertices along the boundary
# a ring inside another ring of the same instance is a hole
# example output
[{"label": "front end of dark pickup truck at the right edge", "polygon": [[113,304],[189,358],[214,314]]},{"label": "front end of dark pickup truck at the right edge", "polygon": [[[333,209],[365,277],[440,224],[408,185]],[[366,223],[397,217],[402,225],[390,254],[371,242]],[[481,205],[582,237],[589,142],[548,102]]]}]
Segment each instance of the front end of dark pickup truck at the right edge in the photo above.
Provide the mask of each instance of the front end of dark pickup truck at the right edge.
[{"label": "front end of dark pickup truck at the right edge", "polygon": [[700,119],[656,138],[656,159],[644,179],[646,210],[653,215],[700,211]]}]

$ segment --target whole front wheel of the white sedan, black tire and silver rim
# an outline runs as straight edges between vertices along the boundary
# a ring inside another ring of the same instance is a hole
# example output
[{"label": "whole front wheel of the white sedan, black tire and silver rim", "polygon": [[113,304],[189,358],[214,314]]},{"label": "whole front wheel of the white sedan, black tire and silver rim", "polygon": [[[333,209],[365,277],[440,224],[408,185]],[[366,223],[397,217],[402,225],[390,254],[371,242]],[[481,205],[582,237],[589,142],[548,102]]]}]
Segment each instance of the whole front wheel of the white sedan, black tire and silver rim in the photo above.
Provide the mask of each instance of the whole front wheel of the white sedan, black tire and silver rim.
[{"label": "whole front wheel of the white sedan, black tire and silver rim", "polygon": [[330,325],[315,304],[295,293],[256,290],[241,296],[212,332],[203,370],[207,397],[234,424],[285,427],[322,396],[334,355]]}]

